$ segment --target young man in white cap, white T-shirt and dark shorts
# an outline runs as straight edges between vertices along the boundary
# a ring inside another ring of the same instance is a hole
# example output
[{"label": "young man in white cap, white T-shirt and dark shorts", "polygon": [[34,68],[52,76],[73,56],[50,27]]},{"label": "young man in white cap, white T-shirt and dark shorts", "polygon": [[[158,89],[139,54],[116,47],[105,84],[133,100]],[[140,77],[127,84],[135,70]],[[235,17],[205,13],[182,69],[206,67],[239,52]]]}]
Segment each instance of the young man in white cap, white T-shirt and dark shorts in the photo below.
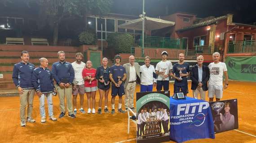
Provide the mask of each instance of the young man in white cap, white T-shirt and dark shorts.
[{"label": "young man in white cap, white T-shirt and dark shorts", "polygon": [[172,63],[167,60],[167,51],[162,52],[162,61],[156,64],[155,71],[158,75],[156,81],[156,90],[169,90],[169,73],[172,72]]}]

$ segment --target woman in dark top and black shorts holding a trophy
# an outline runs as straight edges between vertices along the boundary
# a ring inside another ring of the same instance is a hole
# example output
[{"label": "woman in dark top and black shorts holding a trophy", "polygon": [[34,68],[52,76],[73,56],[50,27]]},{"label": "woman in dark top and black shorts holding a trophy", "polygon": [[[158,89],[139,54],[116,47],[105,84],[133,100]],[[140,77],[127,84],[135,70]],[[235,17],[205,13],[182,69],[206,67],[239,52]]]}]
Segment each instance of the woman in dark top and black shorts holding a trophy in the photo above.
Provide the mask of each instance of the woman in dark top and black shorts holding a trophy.
[{"label": "woman in dark top and black shorts holding a trophy", "polygon": [[110,79],[109,79],[110,68],[107,67],[107,63],[108,63],[108,59],[103,58],[102,66],[98,67],[96,72],[96,79],[98,80],[98,88],[100,93],[98,114],[102,114],[103,95],[105,97],[104,112],[109,113],[107,108],[107,101],[108,101],[108,93],[110,88]]}]

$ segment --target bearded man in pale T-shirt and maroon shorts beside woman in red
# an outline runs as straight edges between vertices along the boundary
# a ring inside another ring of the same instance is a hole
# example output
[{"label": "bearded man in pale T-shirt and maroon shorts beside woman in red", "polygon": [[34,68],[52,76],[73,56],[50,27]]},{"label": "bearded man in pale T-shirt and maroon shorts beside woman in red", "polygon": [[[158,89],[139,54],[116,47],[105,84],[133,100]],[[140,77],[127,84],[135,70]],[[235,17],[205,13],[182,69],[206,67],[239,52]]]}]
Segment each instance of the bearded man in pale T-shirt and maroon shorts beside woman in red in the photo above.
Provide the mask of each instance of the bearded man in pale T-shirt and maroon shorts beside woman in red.
[{"label": "bearded man in pale T-shirt and maroon shorts beside woman in red", "polygon": [[76,97],[77,94],[79,93],[80,96],[80,109],[79,111],[82,114],[85,114],[85,111],[83,109],[83,105],[84,105],[84,79],[82,76],[82,71],[85,67],[85,63],[82,62],[84,55],[82,53],[76,53],[75,54],[75,59],[76,61],[71,63],[72,67],[74,68],[75,71],[75,78],[73,80],[73,106],[74,106],[74,114],[77,113],[77,109],[76,109]]}]

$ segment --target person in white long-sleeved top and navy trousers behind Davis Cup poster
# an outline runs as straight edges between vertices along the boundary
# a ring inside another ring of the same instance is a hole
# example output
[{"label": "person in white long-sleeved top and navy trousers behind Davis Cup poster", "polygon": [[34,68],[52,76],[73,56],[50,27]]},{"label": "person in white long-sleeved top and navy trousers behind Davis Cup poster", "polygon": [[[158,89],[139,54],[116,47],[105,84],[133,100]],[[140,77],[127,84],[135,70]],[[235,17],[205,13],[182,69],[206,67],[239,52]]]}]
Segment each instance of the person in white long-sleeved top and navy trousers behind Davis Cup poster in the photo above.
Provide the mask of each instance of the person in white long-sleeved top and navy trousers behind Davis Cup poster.
[{"label": "person in white long-sleeved top and navy trousers behind Davis Cup poster", "polygon": [[150,64],[150,57],[144,58],[145,65],[140,67],[141,73],[141,92],[153,91],[153,84],[156,85],[156,74],[154,65]]}]

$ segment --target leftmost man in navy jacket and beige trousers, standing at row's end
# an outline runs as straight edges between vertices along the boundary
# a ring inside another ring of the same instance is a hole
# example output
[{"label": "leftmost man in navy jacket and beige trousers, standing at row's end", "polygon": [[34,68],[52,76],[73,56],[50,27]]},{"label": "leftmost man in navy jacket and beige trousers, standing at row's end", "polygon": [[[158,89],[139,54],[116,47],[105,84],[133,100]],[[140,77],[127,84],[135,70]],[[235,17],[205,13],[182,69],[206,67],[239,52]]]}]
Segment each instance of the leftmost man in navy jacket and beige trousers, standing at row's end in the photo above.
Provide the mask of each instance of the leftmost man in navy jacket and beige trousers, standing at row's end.
[{"label": "leftmost man in navy jacket and beige trousers, standing at row's end", "polygon": [[[29,63],[29,54],[26,50],[21,53],[22,61],[16,63],[13,67],[13,83],[18,89],[20,96],[20,118],[21,126],[26,126],[27,122],[35,122],[32,118],[33,100],[35,89],[31,82],[32,72],[35,69],[35,65]],[[28,102],[28,103],[27,103]],[[26,119],[26,105],[27,107],[27,119]]]}]

